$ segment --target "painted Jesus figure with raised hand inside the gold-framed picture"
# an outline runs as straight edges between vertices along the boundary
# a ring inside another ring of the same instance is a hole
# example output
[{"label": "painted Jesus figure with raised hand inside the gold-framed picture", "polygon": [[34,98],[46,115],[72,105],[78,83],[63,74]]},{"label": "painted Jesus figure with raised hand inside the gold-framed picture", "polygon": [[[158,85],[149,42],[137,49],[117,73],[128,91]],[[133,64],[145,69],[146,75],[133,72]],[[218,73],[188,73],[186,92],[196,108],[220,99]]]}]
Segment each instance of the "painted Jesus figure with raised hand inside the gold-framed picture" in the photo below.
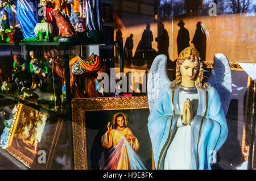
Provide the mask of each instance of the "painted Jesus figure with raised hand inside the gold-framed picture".
[{"label": "painted Jesus figure with raised hand inside the gold-framed picture", "polygon": [[109,122],[108,131],[101,137],[101,144],[104,148],[109,149],[114,146],[114,150],[110,154],[109,166],[107,165],[105,169],[129,170],[131,168],[125,139],[134,151],[139,149],[139,142],[131,129],[127,128],[126,117],[122,113],[118,113],[114,117],[114,129],[112,129]]}]

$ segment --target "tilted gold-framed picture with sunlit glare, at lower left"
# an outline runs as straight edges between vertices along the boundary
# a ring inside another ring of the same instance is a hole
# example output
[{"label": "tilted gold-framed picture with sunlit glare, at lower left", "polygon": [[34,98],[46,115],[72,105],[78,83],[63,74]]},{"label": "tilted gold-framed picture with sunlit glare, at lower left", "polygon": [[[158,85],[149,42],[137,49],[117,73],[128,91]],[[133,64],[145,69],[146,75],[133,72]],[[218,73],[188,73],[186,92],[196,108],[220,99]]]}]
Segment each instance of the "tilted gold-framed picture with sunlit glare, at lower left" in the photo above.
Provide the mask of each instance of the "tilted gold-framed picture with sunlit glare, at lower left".
[{"label": "tilted gold-framed picture with sunlit glare, at lower left", "polygon": [[63,120],[17,104],[6,150],[30,169],[51,169]]}]

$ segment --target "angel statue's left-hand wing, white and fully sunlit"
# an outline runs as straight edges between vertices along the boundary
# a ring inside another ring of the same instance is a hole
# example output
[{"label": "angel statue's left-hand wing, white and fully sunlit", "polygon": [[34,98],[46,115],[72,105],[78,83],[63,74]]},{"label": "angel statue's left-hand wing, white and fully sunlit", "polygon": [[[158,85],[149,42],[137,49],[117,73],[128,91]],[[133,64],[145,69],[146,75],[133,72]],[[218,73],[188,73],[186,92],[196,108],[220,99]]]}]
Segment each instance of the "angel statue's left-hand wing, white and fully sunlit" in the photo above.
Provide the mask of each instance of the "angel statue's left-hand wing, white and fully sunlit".
[{"label": "angel statue's left-hand wing, white and fully sunlit", "polygon": [[158,98],[160,90],[163,89],[167,83],[171,83],[167,75],[167,56],[159,54],[155,57],[148,75],[147,82],[147,96],[148,96],[148,107],[152,110],[155,100]]}]

